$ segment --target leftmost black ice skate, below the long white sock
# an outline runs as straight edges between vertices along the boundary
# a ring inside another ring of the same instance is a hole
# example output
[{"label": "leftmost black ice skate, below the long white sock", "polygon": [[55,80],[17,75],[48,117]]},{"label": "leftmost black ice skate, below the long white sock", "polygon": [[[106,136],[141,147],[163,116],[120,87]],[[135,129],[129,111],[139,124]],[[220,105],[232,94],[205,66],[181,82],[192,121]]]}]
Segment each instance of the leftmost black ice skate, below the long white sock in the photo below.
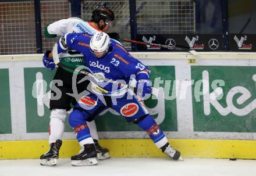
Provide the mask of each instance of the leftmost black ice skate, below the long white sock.
[{"label": "leftmost black ice skate, below the long white sock", "polygon": [[40,156],[42,166],[56,166],[57,159],[59,158],[59,149],[61,148],[62,141],[56,140],[55,143],[51,143],[51,148],[47,153]]}]

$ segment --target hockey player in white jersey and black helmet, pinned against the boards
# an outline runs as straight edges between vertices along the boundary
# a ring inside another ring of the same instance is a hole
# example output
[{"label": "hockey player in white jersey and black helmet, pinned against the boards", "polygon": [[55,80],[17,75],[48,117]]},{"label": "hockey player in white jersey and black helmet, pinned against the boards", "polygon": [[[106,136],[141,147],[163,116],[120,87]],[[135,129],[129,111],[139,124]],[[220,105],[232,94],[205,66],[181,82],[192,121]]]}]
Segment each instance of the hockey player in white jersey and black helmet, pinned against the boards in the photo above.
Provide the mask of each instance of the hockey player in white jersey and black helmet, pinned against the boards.
[{"label": "hockey player in white jersey and black helmet, pinned against the boards", "polygon": [[[70,17],[69,19],[62,19],[49,24],[45,29],[45,37],[54,38],[61,37],[66,33],[81,33],[86,32],[94,34],[97,31],[108,31],[111,26],[114,25],[115,16],[111,9],[106,6],[96,6],[93,10],[91,21],[84,21],[77,17]],[[44,66],[49,69],[54,69],[55,64],[52,58],[48,58],[51,51],[45,52],[43,56]],[[84,65],[84,57],[77,51],[66,51],[60,55],[62,64],[76,68],[77,66]],[[44,155],[41,155],[41,165],[43,166],[55,166],[57,159],[59,158],[59,149],[62,145],[62,135],[65,128],[65,118],[67,111],[70,110],[70,102],[72,97],[67,95],[73,92],[72,90],[72,76],[73,70],[66,69],[64,67],[58,67],[54,80],[62,80],[63,85],[55,85],[62,92],[62,96],[58,100],[54,100],[51,97],[50,100],[50,123],[49,123],[49,146],[50,149]],[[83,78],[83,75],[77,76],[77,82]],[[87,87],[88,82],[82,82],[77,84],[77,91],[83,92]],[[51,95],[56,95],[54,91]],[[94,139],[95,148],[97,150],[98,159],[107,159],[109,156],[109,150],[101,148],[98,143],[98,134],[94,120],[87,122],[90,128],[91,135]]]}]

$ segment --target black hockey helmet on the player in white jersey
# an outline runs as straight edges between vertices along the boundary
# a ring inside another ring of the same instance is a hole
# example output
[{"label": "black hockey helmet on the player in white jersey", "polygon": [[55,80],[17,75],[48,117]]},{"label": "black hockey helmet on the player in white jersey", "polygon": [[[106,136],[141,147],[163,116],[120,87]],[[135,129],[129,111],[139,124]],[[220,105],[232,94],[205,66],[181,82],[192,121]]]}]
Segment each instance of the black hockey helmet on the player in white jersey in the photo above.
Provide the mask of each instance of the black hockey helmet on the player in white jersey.
[{"label": "black hockey helmet on the player in white jersey", "polygon": [[93,15],[91,16],[91,21],[99,23],[100,20],[104,20],[106,24],[111,24],[111,26],[114,26],[115,15],[107,6],[95,6]]}]

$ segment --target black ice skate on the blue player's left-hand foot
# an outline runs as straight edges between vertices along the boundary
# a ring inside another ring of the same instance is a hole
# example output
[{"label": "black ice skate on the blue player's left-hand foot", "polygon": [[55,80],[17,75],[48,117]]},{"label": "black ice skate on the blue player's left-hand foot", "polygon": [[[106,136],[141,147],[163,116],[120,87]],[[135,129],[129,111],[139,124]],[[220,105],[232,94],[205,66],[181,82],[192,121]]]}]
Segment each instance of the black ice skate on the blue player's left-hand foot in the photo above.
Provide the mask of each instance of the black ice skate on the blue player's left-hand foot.
[{"label": "black ice skate on the blue player's left-hand foot", "polygon": [[94,143],[84,145],[84,148],[80,152],[71,157],[72,166],[89,166],[98,164],[96,160],[96,150]]}]

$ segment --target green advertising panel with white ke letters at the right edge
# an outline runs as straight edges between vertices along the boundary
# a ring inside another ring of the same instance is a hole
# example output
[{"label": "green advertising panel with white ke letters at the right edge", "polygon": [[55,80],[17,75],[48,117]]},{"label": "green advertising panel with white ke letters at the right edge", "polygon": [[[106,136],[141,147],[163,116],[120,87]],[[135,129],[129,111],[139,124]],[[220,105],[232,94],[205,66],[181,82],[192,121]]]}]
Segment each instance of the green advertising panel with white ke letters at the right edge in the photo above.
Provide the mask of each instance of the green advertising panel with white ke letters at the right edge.
[{"label": "green advertising panel with white ke letters at the right edge", "polygon": [[194,131],[256,132],[256,67],[191,66]]}]

